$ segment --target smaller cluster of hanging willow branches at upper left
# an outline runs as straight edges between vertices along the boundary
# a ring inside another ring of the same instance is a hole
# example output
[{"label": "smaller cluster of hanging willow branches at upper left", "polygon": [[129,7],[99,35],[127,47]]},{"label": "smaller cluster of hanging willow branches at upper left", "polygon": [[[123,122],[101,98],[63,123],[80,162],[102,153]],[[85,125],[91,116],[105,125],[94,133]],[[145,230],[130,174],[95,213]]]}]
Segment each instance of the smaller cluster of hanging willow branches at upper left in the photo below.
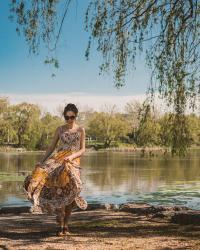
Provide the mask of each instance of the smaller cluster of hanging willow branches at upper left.
[{"label": "smaller cluster of hanging willow branches at upper left", "polygon": [[38,54],[45,46],[45,64],[59,67],[56,49],[64,20],[72,0],[11,0],[10,19],[16,20],[18,34],[23,34],[29,52]]}]

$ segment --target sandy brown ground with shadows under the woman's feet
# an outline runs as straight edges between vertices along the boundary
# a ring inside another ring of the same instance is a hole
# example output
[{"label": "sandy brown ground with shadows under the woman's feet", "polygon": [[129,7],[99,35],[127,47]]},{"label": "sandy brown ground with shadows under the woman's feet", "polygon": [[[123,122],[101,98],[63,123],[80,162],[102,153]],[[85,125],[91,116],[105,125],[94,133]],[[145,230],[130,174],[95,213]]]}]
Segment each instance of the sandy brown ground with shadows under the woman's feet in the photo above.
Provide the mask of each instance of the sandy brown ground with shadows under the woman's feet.
[{"label": "sandy brown ground with shadows under the woman's feet", "polygon": [[127,212],[73,212],[70,236],[56,236],[54,216],[0,216],[0,249],[200,249],[200,226],[181,226]]}]

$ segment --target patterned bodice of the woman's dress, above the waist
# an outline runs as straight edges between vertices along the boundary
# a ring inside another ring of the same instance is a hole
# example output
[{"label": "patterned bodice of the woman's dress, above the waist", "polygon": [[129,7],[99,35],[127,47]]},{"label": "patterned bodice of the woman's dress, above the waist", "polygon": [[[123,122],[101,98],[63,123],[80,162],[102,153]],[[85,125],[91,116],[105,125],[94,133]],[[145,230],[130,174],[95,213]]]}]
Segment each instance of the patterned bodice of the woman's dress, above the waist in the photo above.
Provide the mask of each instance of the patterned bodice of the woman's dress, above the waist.
[{"label": "patterned bodice of the woman's dress, above the waist", "polygon": [[58,150],[80,150],[80,130],[77,131],[64,131],[63,127],[59,127],[59,138],[61,146]]}]

